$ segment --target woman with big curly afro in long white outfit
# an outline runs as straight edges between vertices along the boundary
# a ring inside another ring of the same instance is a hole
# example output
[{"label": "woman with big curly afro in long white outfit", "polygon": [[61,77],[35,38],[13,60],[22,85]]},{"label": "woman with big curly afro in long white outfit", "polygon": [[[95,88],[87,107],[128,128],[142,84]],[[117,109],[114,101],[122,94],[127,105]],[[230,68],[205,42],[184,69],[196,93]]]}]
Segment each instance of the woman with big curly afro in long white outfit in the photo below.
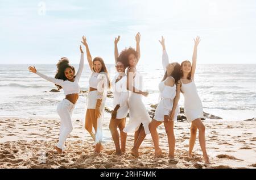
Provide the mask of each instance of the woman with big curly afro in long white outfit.
[{"label": "woman with big curly afro in long white outfit", "polygon": [[148,124],[151,122],[150,115],[147,112],[146,107],[142,102],[142,95],[147,97],[148,93],[143,91],[142,87],[142,76],[137,71],[136,65],[138,64],[140,55],[139,52],[139,41],[141,35],[138,33],[135,37],[137,41],[137,51],[133,48],[125,49],[121,52],[121,61],[127,69],[127,90],[129,90],[129,123],[123,129],[124,132],[135,132],[134,133],[134,146],[131,149],[133,156],[139,156],[139,146],[147,134],[150,133]]}]

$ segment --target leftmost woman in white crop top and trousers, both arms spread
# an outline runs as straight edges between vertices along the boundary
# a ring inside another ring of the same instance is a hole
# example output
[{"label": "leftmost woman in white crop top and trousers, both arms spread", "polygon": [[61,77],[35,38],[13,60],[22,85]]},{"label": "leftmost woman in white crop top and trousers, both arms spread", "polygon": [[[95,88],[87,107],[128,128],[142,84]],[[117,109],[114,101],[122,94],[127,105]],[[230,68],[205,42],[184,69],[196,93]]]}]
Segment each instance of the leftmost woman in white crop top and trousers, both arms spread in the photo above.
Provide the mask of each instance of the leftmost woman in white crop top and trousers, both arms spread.
[{"label": "leftmost woman in white crop top and trousers, both arms spread", "polygon": [[55,146],[55,149],[58,153],[62,153],[65,149],[65,140],[67,139],[68,135],[71,133],[73,126],[72,126],[72,111],[75,108],[75,104],[77,99],[79,98],[80,93],[80,86],[79,86],[79,79],[82,74],[82,69],[84,68],[84,52],[81,51],[81,60],[79,64],[79,70],[75,75],[75,68],[69,65],[69,61],[67,57],[61,58],[61,60],[57,63],[57,73],[55,78],[48,77],[36,70],[35,66],[29,66],[28,69],[30,72],[38,74],[38,76],[46,79],[47,81],[55,83],[57,88],[63,89],[65,94],[65,99],[59,103],[57,106],[57,112],[60,116],[60,137],[59,142]]}]

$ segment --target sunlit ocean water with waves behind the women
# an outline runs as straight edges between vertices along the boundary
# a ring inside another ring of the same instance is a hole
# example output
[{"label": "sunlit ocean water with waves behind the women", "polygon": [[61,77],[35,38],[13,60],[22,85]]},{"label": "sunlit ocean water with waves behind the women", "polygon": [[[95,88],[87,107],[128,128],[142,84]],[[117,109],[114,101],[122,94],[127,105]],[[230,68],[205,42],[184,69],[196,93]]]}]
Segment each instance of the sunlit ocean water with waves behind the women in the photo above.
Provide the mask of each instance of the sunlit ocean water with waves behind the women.
[{"label": "sunlit ocean water with waves behind the women", "polygon": [[[57,104],[64,93],[49,92],[55,85],[28,72],[29,65],[0,65],[0,116],[56,118]],[[78,68],[78,65],[74,65]],[[35,65],[41,73],[54,77],[55,64]],[[115,75],[114,64],[108,64],[110,78]],[[158,103],[158,84],[163,78],[162,66],[138,65],[143,76],[144,90],[150,95],[143,102]],[[85,65],[80,79],[81,90],[88,90],[89,66]],[[224,120],[245,120],[256,117],[256,64],[199,64],[195,82],[204,111]],[[84,119],[85,96],[80,96],[73,117]],[[183,95],[179,102],[183,106]],[[112,109],[112,99],[106,106]]]}]

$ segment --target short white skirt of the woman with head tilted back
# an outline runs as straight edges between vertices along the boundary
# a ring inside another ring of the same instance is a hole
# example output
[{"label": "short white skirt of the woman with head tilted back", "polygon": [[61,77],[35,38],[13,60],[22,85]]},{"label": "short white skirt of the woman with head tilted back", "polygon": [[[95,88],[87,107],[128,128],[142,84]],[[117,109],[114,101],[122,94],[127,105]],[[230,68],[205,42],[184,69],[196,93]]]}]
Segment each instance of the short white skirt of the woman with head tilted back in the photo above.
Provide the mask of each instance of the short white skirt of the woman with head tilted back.
[{"label": "short white skirt of the woman with head tilted back", "polygon": [[[171,99],[161,99],[161,101],[158,104],[158,107],[156,107],[155,110],[155,116],[154,119],[163,122],[164,121],[164,115],[169,115],[172,110],[173,102]],[[176,107],[174,119],[177,120],[177,114],[180,112],[179,106]]]}]

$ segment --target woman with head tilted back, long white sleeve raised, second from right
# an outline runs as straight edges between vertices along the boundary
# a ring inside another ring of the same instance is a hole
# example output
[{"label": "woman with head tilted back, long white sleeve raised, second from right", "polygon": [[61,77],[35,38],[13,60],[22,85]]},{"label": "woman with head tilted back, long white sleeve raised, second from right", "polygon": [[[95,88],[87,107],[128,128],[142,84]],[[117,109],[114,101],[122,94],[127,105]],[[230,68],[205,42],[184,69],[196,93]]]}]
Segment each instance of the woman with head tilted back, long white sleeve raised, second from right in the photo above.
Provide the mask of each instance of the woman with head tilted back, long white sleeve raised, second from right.
[{"label": "woman with head tilted back, long white sleeve raised, second from right", "polygon": [[[159,40],[160,41],[160,40]],[[160,156],[162,154],[162,149],[159,148],[159,139],[158,132],[156,128],[164,122],[164,127],[166,128],[166,133],[168,136],[168,144],[169,144],[169,158],[174,158],[174,150],[175,150],[175,136],[174,136],[174,120],[177,120],[177,114],[179,113],[179,106],[175,108],[175,115],[172,119],[169,118],[170,112],[172,110],[172,106],[174,103],[174,98],[176,95],[176,90],[180,91],[180,86],[176,84],[179,83],[180,80],[180,65],[177,62],[169,63],[169,58],[166,52],[166,46],[164,44],[164,38],[162,36],[162,40],[160,44],[163,47],[163,56],[162,56],[162,64],[164,70],[164,77],[162,81],[159,83],[160,90],[160,102],[158,107],[155,110],[155,116],[152,122],[149,124],[152,140],[155,146],[155,156]]]}]

